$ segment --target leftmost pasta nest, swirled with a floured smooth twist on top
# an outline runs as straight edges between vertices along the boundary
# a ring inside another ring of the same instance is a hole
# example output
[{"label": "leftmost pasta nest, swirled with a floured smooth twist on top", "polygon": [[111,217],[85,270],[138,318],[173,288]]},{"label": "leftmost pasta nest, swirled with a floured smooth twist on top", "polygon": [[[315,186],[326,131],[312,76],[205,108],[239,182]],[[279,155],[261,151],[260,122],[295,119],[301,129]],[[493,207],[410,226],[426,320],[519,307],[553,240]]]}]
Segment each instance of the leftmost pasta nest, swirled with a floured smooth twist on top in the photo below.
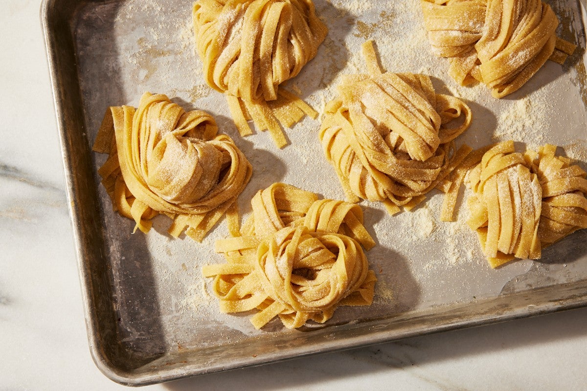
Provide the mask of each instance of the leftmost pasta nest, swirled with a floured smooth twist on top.
[{"label": "leftmost pasta nest, swirled with a floured smooth twist on top", "polygon": [[163,213],[172,236],[185,230],[198,242],[225,213],[238,214],[251,164],[217,131],[210,114],[186,113],[163,94],[145,93],[137,109],[110,107],[93,150],[109,154],[98,172],[114,210],[143,232]]}]

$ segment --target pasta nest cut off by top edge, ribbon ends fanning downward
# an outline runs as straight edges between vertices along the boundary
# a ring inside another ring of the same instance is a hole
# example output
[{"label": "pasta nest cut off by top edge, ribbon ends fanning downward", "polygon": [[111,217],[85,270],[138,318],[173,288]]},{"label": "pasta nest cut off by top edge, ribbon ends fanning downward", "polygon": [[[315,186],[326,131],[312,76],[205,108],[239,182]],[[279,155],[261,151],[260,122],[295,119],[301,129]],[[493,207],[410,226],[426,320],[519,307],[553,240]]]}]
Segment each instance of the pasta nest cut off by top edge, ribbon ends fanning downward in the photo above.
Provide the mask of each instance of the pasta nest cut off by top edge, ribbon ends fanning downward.
[{"label": "pasta nest cut off by top edge, ribbon ends fanning downward", "polygon": [[269,130],[281,148],[287,142],[279,124],[292,127],[318,113],[279,88],[309,62],[328,29],[311,0],[198,0],[193,21],[204,78],[226,94],[241,135],[247,120]]}]

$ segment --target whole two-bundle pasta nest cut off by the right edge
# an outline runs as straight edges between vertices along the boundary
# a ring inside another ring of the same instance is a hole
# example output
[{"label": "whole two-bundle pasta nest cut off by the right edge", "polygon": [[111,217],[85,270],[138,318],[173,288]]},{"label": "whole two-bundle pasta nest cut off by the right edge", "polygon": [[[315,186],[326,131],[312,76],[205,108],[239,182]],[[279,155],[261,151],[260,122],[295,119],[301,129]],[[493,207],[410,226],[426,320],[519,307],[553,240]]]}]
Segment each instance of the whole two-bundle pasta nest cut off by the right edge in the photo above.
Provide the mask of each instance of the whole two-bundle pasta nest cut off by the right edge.
[{"label": "whole two-bundle pasta nest cut off by the right edge", "polygon": [[492,267],[539,259],[541,249],[587,227],[587,175],[554,145],[524,154],[495,145],[469,174],[468,225]]}]

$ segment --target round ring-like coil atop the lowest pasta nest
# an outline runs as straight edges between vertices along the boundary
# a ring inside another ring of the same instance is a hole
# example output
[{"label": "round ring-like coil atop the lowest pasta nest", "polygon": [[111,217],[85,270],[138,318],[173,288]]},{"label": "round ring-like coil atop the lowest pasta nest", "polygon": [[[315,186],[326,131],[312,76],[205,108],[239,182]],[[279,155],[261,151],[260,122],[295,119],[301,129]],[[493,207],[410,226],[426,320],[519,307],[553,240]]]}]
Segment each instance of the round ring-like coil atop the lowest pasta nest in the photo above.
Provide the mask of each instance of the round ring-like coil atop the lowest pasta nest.
[{"label": "round ring-like coil atop the lowest pasta nest", "polygon": [[368,264],[359,243],[336,233],[285,227],[261,242],[256,268],[271,298],[295,311],[322,311],[363,283]]}]

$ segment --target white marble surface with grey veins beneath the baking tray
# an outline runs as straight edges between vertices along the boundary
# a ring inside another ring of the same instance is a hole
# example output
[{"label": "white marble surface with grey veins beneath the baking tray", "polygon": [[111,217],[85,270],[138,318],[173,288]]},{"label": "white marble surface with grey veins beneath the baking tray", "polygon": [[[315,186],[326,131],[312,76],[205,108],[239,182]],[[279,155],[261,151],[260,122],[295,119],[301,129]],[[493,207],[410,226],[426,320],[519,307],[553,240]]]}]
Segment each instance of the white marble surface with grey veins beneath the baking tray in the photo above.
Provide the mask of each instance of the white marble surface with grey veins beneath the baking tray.
[{"label": "white marble surface with grey veins beneath the baking tray", "polygon": [[[0,390],[114,390],[90,358],[40,0],[0,2]],[[587,309],[150,390],[587,388]]]}]

